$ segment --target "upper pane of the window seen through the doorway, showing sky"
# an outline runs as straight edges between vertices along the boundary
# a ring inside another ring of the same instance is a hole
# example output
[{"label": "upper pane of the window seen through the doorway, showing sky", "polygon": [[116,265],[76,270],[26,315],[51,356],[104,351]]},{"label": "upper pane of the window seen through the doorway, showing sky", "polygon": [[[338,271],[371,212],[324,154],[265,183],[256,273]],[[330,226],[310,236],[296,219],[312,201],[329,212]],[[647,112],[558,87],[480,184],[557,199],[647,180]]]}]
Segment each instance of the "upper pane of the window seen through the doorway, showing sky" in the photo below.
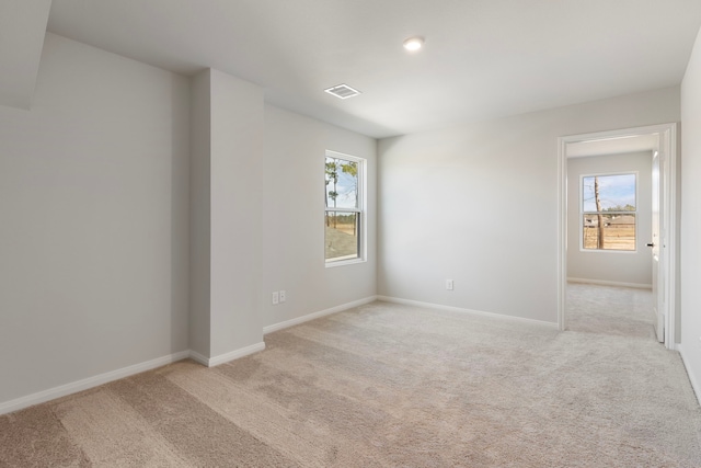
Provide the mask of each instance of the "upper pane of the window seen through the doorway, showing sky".
[{"label": "upper pane of the window seen through the doorway, showing sky", "polygon": [[583,212],[635,210],[635,174],[589,175],[583,178],[582,190]]}]

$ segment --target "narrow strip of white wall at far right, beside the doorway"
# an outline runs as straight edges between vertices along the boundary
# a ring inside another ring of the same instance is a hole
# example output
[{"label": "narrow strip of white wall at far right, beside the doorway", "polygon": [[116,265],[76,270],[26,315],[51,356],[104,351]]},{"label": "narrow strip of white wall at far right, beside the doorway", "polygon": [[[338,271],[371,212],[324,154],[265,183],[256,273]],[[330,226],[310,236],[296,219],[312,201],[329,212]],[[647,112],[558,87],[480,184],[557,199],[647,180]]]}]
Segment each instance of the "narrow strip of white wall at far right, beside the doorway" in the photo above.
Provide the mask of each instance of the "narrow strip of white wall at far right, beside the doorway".
[{"label": "narrow strip of white wall at far right, beside the doorway", "polygon": [[701,399],[701,37],[681,83],[681,355]]}]

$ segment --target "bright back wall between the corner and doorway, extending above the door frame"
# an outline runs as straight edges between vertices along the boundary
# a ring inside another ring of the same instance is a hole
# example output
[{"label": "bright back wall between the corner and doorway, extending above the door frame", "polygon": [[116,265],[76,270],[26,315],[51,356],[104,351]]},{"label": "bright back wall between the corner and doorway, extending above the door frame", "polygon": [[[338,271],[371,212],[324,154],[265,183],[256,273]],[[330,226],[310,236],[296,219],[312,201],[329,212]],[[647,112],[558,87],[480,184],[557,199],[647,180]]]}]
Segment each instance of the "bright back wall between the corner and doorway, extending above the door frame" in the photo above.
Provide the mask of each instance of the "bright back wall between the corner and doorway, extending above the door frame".
[{"label": "bright back wall between the corner and doorway, extending above the door frame", "polygon": [[675,87],[380,140],[378,293],[556,322],[558,137],[679,117]]}]

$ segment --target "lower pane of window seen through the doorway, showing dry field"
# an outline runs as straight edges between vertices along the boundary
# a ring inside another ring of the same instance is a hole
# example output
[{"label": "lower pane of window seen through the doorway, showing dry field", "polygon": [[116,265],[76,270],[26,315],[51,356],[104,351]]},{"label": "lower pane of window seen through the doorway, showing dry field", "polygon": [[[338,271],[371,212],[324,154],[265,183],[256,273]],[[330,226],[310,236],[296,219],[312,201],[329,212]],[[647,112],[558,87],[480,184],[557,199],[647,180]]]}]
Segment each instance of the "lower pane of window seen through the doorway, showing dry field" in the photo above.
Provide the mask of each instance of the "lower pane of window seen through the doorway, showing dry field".
[{"label": "lower pane of window seen through the doorway, showing dry field", "polygon": [[635,250],[635,215],[584,215],[583,246],[595,250]]}]

